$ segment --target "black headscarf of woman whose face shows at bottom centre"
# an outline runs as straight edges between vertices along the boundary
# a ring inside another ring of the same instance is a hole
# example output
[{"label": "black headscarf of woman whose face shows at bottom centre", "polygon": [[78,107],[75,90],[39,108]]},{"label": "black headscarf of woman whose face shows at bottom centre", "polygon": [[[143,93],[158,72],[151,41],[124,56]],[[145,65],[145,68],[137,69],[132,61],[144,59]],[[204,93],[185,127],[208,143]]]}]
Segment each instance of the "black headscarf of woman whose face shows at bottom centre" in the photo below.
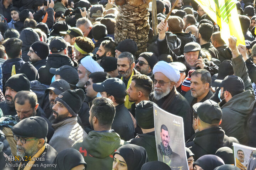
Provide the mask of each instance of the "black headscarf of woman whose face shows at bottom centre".
[{"label": "black headscarf of woman whose face shows at bottom centre", "polygon": [[137,145],[127,144],[117,149],[113,154],[119,154],[127,164],[127,170],[141,170],[142,165],[148,162],[146,150]]}]

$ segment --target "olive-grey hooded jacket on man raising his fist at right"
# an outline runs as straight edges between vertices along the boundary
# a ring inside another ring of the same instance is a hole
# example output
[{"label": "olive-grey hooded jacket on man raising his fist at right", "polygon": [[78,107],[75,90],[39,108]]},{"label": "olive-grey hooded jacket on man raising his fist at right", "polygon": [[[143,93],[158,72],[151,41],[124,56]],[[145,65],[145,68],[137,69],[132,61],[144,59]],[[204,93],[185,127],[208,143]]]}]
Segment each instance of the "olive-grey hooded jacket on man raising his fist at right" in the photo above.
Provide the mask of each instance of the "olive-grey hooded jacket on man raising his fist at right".
[{"label": "olive-grey hooded jacket on man raising his fist at right", "polygon": [[221,107],[222,123],[220,127],[223,128],[226,135],[237,138],[242,145],[247,145],[245,124],[254,107],[255,97],[242,55],[235,59],[232,58],[232,64],[234,75],[244,81],[245,91],[233,96]]}]

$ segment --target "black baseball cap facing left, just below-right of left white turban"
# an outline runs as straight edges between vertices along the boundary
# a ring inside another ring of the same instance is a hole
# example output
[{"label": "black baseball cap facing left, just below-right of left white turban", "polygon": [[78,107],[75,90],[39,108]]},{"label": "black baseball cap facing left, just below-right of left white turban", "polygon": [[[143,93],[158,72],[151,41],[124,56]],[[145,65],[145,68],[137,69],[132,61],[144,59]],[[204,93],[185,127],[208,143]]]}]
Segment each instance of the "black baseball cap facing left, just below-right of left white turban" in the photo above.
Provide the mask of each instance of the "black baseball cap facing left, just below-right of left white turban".
[{"label": "black baseball cap facing left, just below-right of left white turban", "polygon": [[126,86],[121,79],[109,78],[102,83],[94,83],[92,88],[96,92],[107,92],[107,94],[114,97],[125,97]]}]

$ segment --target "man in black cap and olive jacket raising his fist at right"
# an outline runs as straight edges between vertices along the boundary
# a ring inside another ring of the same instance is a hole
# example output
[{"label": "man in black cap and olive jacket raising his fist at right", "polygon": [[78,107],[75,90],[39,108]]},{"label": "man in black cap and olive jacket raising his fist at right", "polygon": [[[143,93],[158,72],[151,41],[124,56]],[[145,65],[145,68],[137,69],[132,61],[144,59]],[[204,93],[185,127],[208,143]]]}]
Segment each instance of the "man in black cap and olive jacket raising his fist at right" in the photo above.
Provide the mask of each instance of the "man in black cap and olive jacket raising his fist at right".
[{"label": "man in black cap and olive jacket raising his fist at right", "polygon": [[[247,145],[248,139],[245,130],[248,115],[252,112],[255,104],[254,91],[251,80],[242,55],[246,50],[238,51],[235,38],[230,38],[229,47],[232,51],[232,64],[234,75],[228,75],[223,80],[215,80],[220,87],[220,107],[223,112],[220,127],[225,134],[238,139],[242,145]],[[243,47],[245,49],[245,46]],[[242,52],[243,51],[243,52]]]}]

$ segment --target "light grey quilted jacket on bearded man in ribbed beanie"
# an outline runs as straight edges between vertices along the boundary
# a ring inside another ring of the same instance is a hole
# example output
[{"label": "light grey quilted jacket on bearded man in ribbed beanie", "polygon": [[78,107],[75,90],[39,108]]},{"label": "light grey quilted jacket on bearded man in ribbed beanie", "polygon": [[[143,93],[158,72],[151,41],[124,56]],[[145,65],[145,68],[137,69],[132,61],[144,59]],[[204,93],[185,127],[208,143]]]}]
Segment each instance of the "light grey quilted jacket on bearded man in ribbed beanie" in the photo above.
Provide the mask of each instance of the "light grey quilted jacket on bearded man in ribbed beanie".
[{"label": "light grey quilted jacket on bearded man in ribbed beanie", "polygon": [[82,140],[87,134],[77,123],[77,117],[71,117],[52,124],[55,132],[49,141],[57,152],[71,148],[75,142]]}]

